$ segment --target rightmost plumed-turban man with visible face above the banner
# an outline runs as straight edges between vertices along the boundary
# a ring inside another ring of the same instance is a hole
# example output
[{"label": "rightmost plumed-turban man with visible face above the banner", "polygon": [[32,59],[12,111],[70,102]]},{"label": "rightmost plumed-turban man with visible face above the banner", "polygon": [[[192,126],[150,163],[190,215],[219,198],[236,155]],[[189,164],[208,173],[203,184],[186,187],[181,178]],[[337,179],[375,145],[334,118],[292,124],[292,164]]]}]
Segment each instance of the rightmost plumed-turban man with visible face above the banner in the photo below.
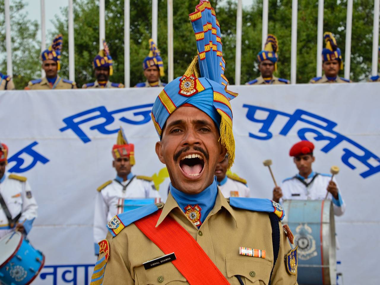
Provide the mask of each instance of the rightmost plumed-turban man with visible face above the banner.
[{"label": "rightmost plumed-turban man with visible face above the banner", "polygon": [[342,52],[332,33],[325,32],[326,47],[322,50],[322,77],[314,77],[309,83],[350,83],[350,79],[339,77],[339,69],[343,70]]}]

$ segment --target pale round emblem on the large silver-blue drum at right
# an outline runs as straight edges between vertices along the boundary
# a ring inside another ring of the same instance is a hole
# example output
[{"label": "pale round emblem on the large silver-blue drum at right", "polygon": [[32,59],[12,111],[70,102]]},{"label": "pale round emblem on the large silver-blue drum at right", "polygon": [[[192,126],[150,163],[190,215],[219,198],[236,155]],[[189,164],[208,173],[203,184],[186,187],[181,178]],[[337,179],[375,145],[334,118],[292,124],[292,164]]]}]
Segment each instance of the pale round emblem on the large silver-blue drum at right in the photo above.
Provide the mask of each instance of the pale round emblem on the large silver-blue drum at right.
[{"label": "pale round emblem on the large silver-blue drum at right", "polygon": [[311,233],[312,229],[307,224],[300,224],[296,227],[294,244],[298,246],[298,255],[301,260],[309,260],[318,255],[315,247],[315,239]]}]

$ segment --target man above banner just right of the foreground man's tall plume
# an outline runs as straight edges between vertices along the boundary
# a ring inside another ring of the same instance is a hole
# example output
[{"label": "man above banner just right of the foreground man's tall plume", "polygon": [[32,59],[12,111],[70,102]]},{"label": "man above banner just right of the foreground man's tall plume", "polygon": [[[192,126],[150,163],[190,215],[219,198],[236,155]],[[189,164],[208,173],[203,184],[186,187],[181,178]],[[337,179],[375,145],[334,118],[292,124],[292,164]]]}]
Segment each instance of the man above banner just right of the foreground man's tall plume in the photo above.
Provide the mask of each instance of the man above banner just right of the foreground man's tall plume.
[{"label": "man above banner just right of the foreground man's tall plume", "polygon": [[266,39],[265,47],[263,51],[257,54],[257,60],[259,62],[260,77],[253,79],[246,85],[258,85],[258,84],[289,84],[289,80],[277,78],[273,75],[277,71],[277,60],[279,51],[279,42],[275,35],[268,35]]}]

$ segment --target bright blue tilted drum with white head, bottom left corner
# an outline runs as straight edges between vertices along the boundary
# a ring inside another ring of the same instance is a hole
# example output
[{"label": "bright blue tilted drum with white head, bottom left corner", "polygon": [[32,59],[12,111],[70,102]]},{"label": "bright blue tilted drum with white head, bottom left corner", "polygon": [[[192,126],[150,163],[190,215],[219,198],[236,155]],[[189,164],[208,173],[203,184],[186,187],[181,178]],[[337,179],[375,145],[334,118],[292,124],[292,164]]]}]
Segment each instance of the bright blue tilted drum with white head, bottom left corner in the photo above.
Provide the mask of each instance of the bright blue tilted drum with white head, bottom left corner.
[{"label": "bright blue tilted drum with white head, bottom left corner", "polygon": [[35,250],[18,231],[0,239],[0,283],[5,285],[30,284],[41,271],[45,256]]}]

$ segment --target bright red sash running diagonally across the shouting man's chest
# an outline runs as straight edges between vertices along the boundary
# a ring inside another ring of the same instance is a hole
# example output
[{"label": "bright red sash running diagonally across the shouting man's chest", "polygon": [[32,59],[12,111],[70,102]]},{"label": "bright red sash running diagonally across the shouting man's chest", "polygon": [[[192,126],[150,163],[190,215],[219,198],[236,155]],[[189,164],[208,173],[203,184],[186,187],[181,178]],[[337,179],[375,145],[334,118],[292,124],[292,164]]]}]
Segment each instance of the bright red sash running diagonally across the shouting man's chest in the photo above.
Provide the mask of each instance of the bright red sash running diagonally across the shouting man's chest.
[{"label": "bright red sash running diagonally across the shouting man's chest", "polygon": [[[147,238],[165,254],[174,252],[172,263],[190,285],[230,285],[198,242],[173,218],[166,216],[156,228],[161,209],[135,222]],[[190,262],[194,260],[195,262]]]}]

